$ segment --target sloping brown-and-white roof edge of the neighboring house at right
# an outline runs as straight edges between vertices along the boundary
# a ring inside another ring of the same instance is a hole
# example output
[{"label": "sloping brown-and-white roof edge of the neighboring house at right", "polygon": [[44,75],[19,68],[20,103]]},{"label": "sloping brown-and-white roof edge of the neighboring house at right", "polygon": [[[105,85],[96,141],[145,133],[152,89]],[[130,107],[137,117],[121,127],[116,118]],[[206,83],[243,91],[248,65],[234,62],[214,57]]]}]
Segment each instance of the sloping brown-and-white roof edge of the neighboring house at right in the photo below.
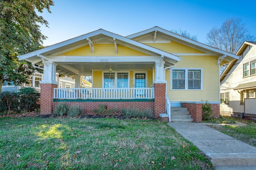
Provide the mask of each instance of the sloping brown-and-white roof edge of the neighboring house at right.
[{"label": "sloping brown-and-white roof edge of the neighboring house at right", "polygon": [[[248,45],[256,46],[256,41],[244,41],[244,43],[241,45],[241,47],[237,51],[236,55],[238,55],[238,56],[242,55],[242,53],[248,47]],[[228,75],[228,72],[230,72],[230,70],[236,64],[237,61],[238,61],[238,59],[236,59],[236,60],[234,60],[234,61],[232,61],[231,63],[228,64],[228,66],[226,67],[224,72],[222,72],[222,74],[220,76],[220,82],[222,80],[224,80],[224,78]]]}]

